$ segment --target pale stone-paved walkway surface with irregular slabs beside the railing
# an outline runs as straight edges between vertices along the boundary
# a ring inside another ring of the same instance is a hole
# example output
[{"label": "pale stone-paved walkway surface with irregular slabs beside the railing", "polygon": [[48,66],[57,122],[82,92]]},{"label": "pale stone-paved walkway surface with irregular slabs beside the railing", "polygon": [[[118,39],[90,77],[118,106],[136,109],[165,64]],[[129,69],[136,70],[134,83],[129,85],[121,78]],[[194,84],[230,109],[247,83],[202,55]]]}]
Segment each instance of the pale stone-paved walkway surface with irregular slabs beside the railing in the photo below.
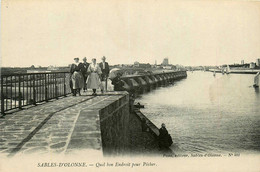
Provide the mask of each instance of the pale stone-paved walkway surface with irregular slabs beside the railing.
[{"label": "pale stone-paved walkway surface with irregular slabs beside the railing", "polygon": [[0,119],[0,155],[101,150],[98,110],[121,94],[87,92],[6,115]]}]

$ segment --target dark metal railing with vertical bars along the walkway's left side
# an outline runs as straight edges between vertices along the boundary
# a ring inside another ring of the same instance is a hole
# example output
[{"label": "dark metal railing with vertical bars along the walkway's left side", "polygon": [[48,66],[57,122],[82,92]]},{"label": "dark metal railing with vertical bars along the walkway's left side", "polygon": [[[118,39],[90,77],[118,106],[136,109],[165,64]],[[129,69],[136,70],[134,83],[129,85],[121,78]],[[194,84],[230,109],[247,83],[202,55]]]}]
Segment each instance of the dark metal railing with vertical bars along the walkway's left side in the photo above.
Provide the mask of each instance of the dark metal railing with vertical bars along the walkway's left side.
[{"label": "dark metal railing with vertical bars along the walkway's left side", "polygon": [[1,75],[1,114],[71,93],[69,72]]}]

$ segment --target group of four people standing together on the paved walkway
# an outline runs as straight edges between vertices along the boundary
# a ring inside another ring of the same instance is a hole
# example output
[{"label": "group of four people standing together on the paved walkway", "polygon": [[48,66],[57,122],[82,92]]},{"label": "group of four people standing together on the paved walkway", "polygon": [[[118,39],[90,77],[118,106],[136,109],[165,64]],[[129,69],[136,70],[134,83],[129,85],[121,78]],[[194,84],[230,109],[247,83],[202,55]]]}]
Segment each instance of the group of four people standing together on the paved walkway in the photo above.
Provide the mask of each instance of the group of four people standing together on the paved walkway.
[{"label": "group of four people standing together on the paved walkway", "polygon": [[[103,93],[107,89],[107,79],[109,76],[109,64],[106,62],[106,57],[102,57],[102,62],[97,64],[95,58],[92,63],[87,62],[87,58],[83,58],[83,62],[79,62],[79,58],[74,58],[74,63],[70,67],[70,87],[73,96],[79,95],[81,89],[84,92],[87,89],[92,89],[94,96],[97,95],[96,90],[101,89]],[[102,84],[105,83],[105,84]]]}]

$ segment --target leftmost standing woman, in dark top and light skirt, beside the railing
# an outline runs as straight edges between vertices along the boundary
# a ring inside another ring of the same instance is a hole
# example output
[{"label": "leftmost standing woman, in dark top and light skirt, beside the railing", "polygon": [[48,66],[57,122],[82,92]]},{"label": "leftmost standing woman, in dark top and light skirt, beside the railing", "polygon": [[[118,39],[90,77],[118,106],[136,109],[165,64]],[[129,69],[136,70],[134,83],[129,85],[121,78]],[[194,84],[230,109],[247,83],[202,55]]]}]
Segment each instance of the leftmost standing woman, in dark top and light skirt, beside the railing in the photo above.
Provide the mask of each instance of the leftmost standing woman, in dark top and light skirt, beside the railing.
[{"label": "leftmost standing woman, in dark top and light skirt, beside the railing", "polygon": [[72,94],[76,96],[80,95],[80,90],[84,87],[84,78],[79,69],[79,58],[74,58],[74,63],[70,67],[71,82],[72,82]]}]

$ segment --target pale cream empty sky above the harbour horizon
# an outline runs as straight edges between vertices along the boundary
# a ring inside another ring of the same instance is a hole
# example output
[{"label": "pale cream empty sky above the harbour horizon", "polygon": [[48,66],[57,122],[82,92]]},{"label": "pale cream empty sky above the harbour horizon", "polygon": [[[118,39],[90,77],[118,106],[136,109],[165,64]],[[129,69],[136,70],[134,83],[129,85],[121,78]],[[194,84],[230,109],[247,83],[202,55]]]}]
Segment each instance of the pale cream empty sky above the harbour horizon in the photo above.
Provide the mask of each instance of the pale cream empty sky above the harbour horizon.
[{"label": "pale cream empty sky above the harbour horizon", "polygon": [[1,66],[222,65],[260,58],[260,2],[2,0]]}]

